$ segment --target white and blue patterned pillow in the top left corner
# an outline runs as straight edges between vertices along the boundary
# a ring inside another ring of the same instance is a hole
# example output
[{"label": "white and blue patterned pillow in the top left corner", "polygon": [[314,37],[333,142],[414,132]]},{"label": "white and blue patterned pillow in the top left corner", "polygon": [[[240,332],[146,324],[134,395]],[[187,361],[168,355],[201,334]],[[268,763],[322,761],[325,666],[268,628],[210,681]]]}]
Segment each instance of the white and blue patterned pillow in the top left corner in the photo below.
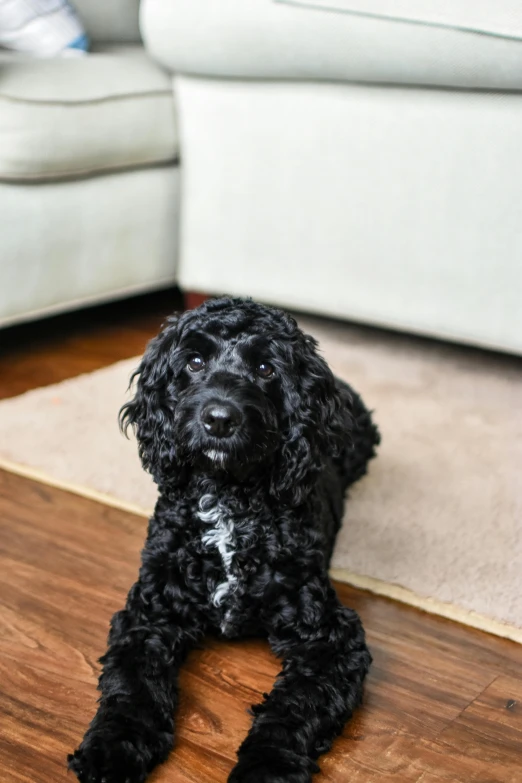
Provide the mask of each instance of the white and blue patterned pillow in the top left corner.
[{"label": "white and blue patterned pillow in the top left corner", "polygon": [[67,0],[0,0],[0,46],[56,57],[83,54],[88,39]]}]

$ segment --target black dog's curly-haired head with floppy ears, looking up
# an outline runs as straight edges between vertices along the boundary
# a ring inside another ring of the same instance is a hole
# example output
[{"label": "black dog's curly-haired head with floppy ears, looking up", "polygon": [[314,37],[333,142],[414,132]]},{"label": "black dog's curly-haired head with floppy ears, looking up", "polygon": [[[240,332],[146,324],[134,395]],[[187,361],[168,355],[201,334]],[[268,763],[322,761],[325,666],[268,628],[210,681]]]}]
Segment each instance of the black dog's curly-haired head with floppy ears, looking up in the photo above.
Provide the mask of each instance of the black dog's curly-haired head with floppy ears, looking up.
[{"label": "black dog's curly-haired head with floppy ears, looking up", "polygon": [[187,470],[267,479],[299,503],[349,426],[315,340],[293,318],[250,300],[214,299],[172,317],[138,367],[123,406],[160,486]]}]

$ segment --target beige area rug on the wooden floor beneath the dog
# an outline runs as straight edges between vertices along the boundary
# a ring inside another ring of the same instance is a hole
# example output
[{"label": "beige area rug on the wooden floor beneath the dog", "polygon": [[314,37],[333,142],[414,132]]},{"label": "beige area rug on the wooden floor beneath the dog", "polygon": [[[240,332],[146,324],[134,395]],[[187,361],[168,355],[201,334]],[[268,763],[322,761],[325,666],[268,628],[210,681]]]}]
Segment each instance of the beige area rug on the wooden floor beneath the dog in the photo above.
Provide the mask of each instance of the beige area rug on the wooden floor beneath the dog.
[{"label": "beige area rug on the wooden floor beneath the dog", "polygon": [[[302,323],[383,434],[333,574],[522,642],[522,363]],[[148,513],[155,488],[116,422],[137,361],[0,403],[0,464]]]}]

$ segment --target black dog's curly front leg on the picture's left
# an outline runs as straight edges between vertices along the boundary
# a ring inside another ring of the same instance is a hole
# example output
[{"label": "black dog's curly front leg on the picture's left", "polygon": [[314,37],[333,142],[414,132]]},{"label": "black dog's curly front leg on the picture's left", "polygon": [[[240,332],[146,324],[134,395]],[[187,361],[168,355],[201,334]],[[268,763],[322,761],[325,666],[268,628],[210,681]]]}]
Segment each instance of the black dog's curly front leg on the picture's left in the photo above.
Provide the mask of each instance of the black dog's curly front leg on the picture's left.
[{"label": "black dog's curly front leg on the picture's left", "polygon": [[98,711],[69,756],[81,783],[142,783],[166,759],[178,669],[205,631],[198,580],[186,573],[187,553],[175,535],[149,534],[139,579],[112,619]]}]

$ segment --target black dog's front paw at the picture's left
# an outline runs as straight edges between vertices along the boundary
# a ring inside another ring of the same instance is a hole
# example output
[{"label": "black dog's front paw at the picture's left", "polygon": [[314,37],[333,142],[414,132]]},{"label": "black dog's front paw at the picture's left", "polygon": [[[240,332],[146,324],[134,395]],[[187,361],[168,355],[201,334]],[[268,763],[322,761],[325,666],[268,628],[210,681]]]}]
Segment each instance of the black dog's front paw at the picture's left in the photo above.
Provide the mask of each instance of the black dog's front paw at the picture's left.
[{"label": "black dog's front paw at the picture's left", "polygon": [[143,783],[147,777],[146,758],[130,740],[88,736],[67,761],[80,783]]}]

